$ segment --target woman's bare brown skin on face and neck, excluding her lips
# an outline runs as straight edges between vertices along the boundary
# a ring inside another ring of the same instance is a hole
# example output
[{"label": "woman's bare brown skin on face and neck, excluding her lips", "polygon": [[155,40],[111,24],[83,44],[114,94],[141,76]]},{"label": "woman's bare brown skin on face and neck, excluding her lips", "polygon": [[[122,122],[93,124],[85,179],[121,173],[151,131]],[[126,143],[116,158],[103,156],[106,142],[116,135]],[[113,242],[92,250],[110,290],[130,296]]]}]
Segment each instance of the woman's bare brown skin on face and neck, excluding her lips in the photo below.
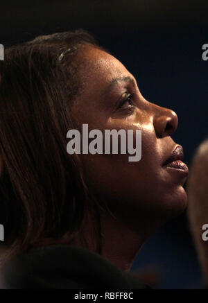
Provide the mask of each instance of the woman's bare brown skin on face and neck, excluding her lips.
[{"label": "woman's bare brown skin on face and neck, excluding her lips", "polygon": [[[134,76],[112,55],[87,46],[80,58],[83,89],[72,108],[80,133],[87,123],[89,130],[138,129],[142,134],[139,162],[128,162],[128,154],[80,156],[89,188],[112,213],[101,212],[102,255],[129,271],[148,236],[187,206],[187,173],[163,165],[177,146],[171,139],[177,115],[146,101]],[[94,250],[92,224],[86,219],[84,226]],[[81,245],[81,236],[75,245]]]}]

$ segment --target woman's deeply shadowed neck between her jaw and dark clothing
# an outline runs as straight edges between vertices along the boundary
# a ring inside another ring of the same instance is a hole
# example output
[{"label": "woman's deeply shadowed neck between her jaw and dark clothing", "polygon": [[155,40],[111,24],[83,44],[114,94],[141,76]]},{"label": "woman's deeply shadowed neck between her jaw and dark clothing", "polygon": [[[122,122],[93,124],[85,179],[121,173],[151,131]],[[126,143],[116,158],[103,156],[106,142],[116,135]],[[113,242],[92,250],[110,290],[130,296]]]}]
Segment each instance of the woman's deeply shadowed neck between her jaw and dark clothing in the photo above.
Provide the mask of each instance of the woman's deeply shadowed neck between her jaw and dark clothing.
[{"label": "woman's deeply shadowed neck between her jaw and dark clothing", "polygon": [[[156,227],[153,224],[150,225],[151,220],[144,220],[144,218],[138,218],[134,226],[132,221],[124,222],[113,215],[106,214],[104,211],[101,213],[100,218],[101,256],[113,263],[117,268],[129,272],[141,246]],[[96,250],[96,237],[93,232],[92,220],[85,218],[83,226],[83,230],[73,240],[73,245],[78,245],[94,252]],[[82,241],[83,236],[86,239],[85,242]]]}]

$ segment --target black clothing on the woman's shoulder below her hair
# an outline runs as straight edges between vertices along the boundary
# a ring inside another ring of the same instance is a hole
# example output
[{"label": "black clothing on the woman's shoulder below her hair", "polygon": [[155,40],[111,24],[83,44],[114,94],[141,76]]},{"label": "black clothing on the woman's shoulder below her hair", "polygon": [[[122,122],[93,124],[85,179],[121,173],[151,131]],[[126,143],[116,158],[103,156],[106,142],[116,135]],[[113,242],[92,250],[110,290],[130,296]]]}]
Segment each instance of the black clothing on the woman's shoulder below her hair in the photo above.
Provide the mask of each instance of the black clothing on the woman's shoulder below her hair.
[{"label": "black clothing on the woman's shoulder below her hair", "polygon": [[1,270],[1,275],[1,288],[148,288],[99,254],[73,245],[53,245],[21,254]]}]

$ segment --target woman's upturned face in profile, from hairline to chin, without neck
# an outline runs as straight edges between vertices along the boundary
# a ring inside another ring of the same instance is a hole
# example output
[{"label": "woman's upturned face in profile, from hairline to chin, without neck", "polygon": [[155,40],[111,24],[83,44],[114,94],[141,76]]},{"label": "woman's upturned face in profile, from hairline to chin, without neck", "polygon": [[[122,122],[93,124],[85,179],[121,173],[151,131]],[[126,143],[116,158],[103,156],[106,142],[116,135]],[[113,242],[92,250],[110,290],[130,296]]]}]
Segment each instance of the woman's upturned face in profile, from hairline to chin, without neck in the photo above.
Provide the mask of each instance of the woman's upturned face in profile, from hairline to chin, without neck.
[{"label": "woman's upturned face in profile, from hairline to chin, without neck", "polygon": [[[85,62],[80,69],[83,89],[72,107],[80,133],[83,123],[103,134],[141,130],[142,142],[139,162],[129,162],[128,154],[80,155],[89,187],[112,211],[131,220],[181,212],[187,205],[182,186],[188,171],[180,161],[173,162],[182,158],[171,139],[177,115],[148,102],[134,76],[112,55],[93,47],[80,55]],[[165,165],[171,156],[172,163]]]}]

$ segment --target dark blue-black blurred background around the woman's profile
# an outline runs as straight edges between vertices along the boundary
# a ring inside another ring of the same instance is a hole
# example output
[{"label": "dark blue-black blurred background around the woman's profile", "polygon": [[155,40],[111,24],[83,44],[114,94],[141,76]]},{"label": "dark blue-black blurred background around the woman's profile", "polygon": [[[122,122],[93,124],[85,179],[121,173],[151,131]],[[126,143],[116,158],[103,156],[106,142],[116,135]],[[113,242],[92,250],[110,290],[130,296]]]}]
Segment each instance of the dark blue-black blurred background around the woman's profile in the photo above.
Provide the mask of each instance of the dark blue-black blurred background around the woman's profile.
[{"label": "dark blue-black blurred background around the woman's profile", "polygon": [[[177,112],[173,139],[184,146],[190,164],[207,137],[208,1],[4,1],[0,43],[84,28],[137,78],[148,101]],[[208,220],[207,220],[208,221]],[[156,268],[159,288],[196,288],[200,268],[186,212],[157,231],[141,250],[133,269]]]}]

